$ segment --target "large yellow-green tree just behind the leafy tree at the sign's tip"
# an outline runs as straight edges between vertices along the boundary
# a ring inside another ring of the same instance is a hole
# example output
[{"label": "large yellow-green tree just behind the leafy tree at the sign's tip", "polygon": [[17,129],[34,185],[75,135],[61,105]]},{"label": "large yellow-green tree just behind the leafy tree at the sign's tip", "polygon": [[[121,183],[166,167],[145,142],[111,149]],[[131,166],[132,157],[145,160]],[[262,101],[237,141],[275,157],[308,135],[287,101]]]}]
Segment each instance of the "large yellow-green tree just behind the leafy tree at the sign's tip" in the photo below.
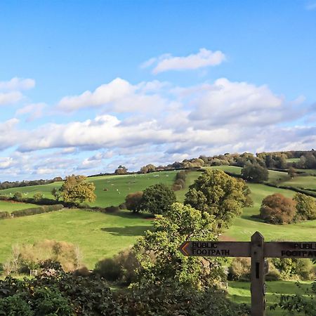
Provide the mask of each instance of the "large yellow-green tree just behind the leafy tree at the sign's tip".
[{"label": "large yellow-green tree just behind the leafy tree at the sign's tip", "polygon": [[[218,228],[227,228],[246,204],[244,181],[228,176],[224,171],[208,169],[185,195],[185,204],[215,216]],[[246,194],[246,192],[245,192]]]}]

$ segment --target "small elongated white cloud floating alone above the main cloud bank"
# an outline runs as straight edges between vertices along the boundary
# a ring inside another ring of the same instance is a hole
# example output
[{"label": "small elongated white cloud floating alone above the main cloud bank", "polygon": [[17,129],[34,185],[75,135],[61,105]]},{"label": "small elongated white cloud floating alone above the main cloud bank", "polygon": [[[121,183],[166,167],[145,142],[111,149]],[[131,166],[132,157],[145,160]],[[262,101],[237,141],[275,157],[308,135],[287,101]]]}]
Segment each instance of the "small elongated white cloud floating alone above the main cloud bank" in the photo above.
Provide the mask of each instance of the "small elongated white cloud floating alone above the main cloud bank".
[{"label": "small elongated white cloud floating alone above the main cloud bank", "polygon": [[153,74],[166,72],[169,70],[195,70],[202,67],[216,66],[225,60],[225,55],[221,51],[209,51],[201,48],[198,53],[183,57],[173,56],[171,54],[160,55],[157,58],[150,58],[144,62],[141,67],[150,67],[155,65]]}]

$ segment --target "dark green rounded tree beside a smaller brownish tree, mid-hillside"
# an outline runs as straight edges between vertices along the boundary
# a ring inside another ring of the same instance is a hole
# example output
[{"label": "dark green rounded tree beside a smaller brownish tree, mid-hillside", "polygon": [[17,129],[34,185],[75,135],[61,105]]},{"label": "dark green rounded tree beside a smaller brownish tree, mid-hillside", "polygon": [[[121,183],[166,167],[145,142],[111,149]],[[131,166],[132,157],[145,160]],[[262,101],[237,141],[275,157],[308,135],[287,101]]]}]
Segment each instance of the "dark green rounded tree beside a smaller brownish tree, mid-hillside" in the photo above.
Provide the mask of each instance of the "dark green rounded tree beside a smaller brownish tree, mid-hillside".
[{"label": "dark green rounded tree beside a smaller brownish tree, mid-hillside", "polygon": [[154,214],[165,213],[176,202],[173,190],[163,183],[150,185],[143,192],[137,211],[149,211]]}]

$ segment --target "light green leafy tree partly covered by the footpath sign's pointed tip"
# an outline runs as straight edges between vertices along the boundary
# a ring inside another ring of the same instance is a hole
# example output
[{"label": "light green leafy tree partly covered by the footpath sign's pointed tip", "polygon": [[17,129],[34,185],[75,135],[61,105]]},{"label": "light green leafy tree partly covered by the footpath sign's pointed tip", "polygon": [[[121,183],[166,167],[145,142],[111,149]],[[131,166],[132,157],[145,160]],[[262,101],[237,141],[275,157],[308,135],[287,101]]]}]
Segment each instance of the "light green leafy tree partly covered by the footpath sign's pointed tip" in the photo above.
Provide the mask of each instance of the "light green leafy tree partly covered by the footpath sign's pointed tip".
[{"label": "light green leafy tree partly covered by the footpath sign's pointed tip", "polygon": [[214,217],[190,205],[174,203],[165,216],[156,216],[154,228],[133,247],[138,254],[141,284],[171,282],[201,289],[223,277],[223,259],[183,256],[178,250],[185,240],[216,240]]}]

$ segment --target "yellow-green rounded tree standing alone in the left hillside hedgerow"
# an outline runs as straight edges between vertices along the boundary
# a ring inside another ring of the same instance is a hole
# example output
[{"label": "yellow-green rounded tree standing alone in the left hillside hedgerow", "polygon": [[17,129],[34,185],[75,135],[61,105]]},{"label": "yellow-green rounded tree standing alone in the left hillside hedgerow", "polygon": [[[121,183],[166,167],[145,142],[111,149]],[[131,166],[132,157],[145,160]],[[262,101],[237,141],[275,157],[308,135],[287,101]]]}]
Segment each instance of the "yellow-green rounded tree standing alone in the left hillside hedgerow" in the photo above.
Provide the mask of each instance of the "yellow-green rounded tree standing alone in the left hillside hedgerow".
[{"label": "yellow-green rounded tree standing alone in the left hillside hedgerow", "polygon": [[88,183],[85,180],[86,176],[67,176],[60,188],[62,199],[74,204],[84,201],[93,202],[96,199],[94,193],[96,187],[93,183]]}]

